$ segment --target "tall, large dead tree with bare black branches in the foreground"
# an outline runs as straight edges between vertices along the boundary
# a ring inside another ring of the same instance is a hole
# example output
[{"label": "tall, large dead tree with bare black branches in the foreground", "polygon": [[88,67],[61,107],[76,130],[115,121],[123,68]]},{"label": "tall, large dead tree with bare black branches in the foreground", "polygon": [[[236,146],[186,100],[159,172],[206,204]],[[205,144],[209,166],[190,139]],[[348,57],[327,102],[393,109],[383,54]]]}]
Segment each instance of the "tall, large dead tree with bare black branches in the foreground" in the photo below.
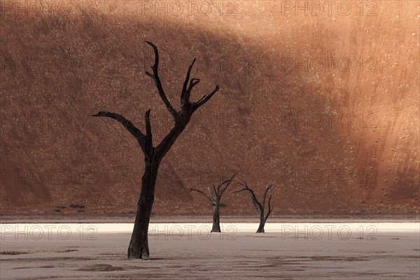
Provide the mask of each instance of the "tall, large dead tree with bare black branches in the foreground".
[{"label": "tall, large dead tree with bare black branches in the foreground", "polygon": [[188,122],[190,121],[193,113],[204,105],[206,102],[213,97],[213,95],[219,90],[218,85],[215,89],[209,94],[204,95],[199,101],[192,102],[190,101],[190,94],[195,85],[200,83],[200,79],[191,78],[190,74],[195,63],[195,59],[190,64],[188,71],[186,73],[186,79],[183,82],[183,87],[181,91],[181,110],[176,111],[171,105],[165,91],[163,90],[162,83],[158,74],[159,66],[159,52],[156,45],[151,42],[146,42],[153,48],[155,52],[155,63],[151,66],[153,73],[146,71],[146,75],[151,77],[155,82],[155,85],[158,89],[160,98],[165,103],[169,113],[171,113],[174,118],[174,127],[167,134],[166,137],[160,141],[158,146],[153,146],[152,141],[152,129],[151,129],[151,120],[150,113],[151,110],[146,111],[145,122],[146,122],[146,134],[141,132],[137,127],[135,127],[130,120],[127,120],[117,113],[110,112],[99,112],[96,115],[97,117],[107,117],[113,118],[114,120],[121,123],[133,136],[137,139],[141,150],[144,153],[144,174],[141,179],[141,192],[139,202],[137,202],[137,215],[136,220],[134,221],[134,229],[132,232],[132,237],[130,240],[130,245],[128,247],[127,256],[128,258],[149,258],[149,248],[148,248],[148,225],[151,218],[153,202],[155,200],[155,184],[158,176],[158,170],[162,158],[165,157],[169,149],[174,145],[176,139],[183,130],[185,130]]}]

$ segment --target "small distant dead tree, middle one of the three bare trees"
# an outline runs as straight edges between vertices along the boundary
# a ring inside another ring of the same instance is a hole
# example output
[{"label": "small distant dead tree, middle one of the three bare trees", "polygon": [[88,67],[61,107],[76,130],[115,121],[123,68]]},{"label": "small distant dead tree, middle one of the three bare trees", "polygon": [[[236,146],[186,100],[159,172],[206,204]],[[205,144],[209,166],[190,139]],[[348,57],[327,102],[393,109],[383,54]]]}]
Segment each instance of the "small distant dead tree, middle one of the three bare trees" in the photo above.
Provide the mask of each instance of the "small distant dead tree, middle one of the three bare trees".
[{"label": "small distant dead tree, middle one of the three bare trees", "polygon": [[[190,192],[195,190],[198,193],[201,193],[204,195],[204,197],[207,198],[207,200],[210,200],[211,204],[213,204],[213,227],[211,228],[211,232],[222,232],[221,231],[221,215],[220,215],[220,205],[221,205],[221,197],[223,193],[225,193],[225,190],[228,188],[230,183],[232,183],[232,180],[235,178],[236,173],[233,174],[232,178],[229,180],[224,181],[223,183],[218,184],[218,186],[206,186],[207,193],[204,193],[202,190],[196,190],[195,188],[190,188]],[[226,186],[223,186],[225,185]]]}]

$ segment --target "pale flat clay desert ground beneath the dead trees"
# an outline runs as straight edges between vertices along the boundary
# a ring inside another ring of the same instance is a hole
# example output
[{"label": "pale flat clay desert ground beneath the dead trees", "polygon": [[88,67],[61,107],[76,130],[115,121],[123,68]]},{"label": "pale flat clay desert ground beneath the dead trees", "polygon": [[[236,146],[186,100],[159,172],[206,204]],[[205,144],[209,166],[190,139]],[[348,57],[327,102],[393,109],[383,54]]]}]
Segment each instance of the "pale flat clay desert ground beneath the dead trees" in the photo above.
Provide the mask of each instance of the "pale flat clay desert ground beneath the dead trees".
[{"label": "pale flat clay desert ground beneath the dead trees", "polygon": [[126,257],[132,223],[2,223],[1,279],[419,279],[408,221],[151,223],[150,260]]}]

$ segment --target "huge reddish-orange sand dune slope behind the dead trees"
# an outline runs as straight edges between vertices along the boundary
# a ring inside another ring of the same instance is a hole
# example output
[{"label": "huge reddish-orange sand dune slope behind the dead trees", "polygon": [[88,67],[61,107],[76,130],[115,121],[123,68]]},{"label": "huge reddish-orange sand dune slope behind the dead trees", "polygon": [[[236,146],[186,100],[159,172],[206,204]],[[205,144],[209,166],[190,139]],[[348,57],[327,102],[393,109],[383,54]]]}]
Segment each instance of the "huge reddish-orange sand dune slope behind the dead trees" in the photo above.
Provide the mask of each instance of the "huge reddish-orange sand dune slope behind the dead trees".
[{"label": "huge reddish-orange sand dune slope behind the dead trees", "polygon": [[[274,216],[419,214],[416,1],[350,1],[349,15],[317,16],[287,1],[178,12],[168,1],[76,2],[1,2],[1,214],[134,211],[141,149],[90,114],[121,113],[144,129],[151,109],[155,144],[171,129],[144,74],[146,40],[174,106],[193,57],[193,99],[221,87],[163,160],[155,214],[209,214],[188,188],[232,172],[259,195],[274,184]],[[224,214],[253,214],[247,195],[224,202]]]}]

